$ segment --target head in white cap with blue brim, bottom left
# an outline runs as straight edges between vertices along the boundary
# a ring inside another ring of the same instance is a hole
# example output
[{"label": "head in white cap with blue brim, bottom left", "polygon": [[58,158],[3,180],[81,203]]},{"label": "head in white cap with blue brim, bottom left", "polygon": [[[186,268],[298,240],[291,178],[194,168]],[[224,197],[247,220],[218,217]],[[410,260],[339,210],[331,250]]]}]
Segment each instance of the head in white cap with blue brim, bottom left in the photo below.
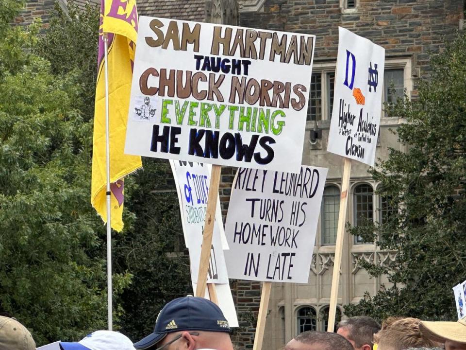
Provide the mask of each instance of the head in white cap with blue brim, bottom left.
[{"label": "head in white cap with blue brim, bottom left", "polygon": [[134,350],[127,336],[113,331],[96,331],[79,342],[60,342],[59,345],[61,350]]}]

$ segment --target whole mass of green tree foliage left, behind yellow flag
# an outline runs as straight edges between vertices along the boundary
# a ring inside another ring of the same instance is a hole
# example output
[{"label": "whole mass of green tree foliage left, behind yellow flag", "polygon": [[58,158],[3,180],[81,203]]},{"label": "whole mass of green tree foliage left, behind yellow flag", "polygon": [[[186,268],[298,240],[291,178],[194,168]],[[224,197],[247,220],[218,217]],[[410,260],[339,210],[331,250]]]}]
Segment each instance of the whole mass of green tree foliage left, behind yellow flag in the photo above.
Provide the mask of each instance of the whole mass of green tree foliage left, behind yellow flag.
[{"label": "whole mass of green tree foliage left, behind yellow flag", "polygon": [[[107,327],[105,227],[89,203],[99,9],[57,5],[39,35],[39,24],[10,26],[21,3],[2,5],[0,313],[37,345],[79,340]],[[191,290],[167,165],[148,160],[125,180],[113,237],[115,326],[134,339]]]}]

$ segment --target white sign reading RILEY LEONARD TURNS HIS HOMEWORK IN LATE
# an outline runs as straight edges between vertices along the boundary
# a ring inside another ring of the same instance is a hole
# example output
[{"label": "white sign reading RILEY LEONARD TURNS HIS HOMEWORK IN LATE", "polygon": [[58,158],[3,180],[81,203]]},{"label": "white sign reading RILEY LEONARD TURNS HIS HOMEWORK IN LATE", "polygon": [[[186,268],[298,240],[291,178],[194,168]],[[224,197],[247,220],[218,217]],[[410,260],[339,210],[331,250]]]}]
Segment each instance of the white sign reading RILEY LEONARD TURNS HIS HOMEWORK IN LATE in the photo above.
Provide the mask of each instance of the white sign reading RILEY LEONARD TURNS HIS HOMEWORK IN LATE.
[{"label": "white sign reading RILEY LEONARD TURNS HIS HOMEWORK IN LATE", "polygon": [[308,282],[327,170],[238,169],[225,224],[230,278]]}]

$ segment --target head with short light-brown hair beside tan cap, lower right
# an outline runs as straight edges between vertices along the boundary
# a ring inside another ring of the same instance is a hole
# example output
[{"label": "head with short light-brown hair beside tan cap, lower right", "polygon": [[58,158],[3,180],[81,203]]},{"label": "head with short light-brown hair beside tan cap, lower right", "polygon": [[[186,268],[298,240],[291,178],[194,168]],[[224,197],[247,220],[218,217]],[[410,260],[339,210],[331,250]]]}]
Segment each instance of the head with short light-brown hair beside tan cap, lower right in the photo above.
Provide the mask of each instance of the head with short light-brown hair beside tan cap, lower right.
[{"label": "head with short light-brown hair beside tan cap, lower right", "polygon": [[374,334],[377,350],[406,350],[409,348],[433,348],[437,344],[419,330],[418,318],[389,317],[382,323],[382,329]]}]

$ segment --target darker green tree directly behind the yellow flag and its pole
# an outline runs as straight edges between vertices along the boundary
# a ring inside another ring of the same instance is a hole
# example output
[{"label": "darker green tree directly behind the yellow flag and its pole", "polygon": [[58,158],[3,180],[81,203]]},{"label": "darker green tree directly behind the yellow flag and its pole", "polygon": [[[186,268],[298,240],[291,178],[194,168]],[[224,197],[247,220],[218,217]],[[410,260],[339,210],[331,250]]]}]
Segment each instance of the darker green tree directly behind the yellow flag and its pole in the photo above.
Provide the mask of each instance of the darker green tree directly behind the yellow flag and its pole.
[{"label": "darker green tree directly behind the yellow flag and its pole", "polygon": [[[50,61],[54,74],[76,77],[80,89],[74,107],[91,123],[98,28],[98,7],[81,10],[68,1],[67,12],[55,6],[50,29],[35,46],[35,52]],[[123,232],[113,232],[113,270],[133,279],[121,295],[114,296],[116,327],[138,339],[151,332],[167,301],[191,291],[178,199],[166,160],[145,158],[144,171],[125,179],[123,215]],[[100,238],[104,241],[105,235]],[[105,257],[105,248],[99,245],[92,254]]]}]

